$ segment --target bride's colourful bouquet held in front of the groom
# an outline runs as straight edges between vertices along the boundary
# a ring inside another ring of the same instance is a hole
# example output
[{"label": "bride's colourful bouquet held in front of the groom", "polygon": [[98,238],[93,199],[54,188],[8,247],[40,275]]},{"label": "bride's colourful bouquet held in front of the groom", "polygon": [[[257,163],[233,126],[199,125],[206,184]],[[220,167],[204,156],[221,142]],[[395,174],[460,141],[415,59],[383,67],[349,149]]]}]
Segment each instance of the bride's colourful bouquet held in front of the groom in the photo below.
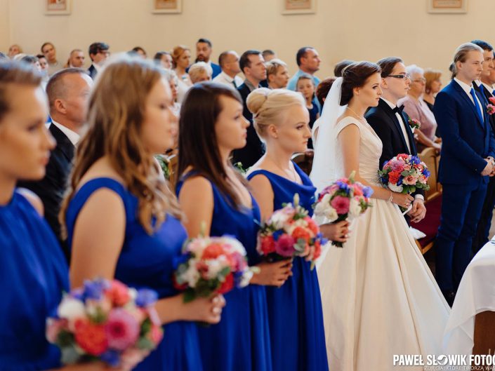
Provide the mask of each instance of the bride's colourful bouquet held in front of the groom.
[{"label": "bride's colourful bouquet held in front of the groom", "polygon": [[[428,191],[430,172],[426,164],[418,156],[398,154],[383,164],[383,170],[378,170],[380,182],[390,191],[402,194],[412,194],[416,189]],[[403,212],[406,209],[400,207]]]}]

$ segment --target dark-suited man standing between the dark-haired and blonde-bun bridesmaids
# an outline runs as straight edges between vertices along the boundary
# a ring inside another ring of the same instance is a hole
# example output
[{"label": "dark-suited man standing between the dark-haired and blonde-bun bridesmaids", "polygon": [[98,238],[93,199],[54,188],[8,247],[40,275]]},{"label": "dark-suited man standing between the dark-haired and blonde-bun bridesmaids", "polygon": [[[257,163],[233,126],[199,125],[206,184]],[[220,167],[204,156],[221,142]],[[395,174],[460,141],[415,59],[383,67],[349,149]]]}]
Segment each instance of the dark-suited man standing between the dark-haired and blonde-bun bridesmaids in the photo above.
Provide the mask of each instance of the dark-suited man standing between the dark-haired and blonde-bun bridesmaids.
[{"label": "dark-suited man standing between the dark-haired and blonde-bun bridesmaids", "polygon": [[242,163],[242,167],[247,169],[253,166],[265,153],[263,143],[254,129],[253,114],[249,111],[246,100],[251,91],[260,88],[260,81],[266,79],[266,67],[265,60],[263,60],[263,56],[258,50],[247,50],[242,53],[239,65],[244,76],[246,76],[246,80],[244,80],[244,83],[237,90],[241,94],[244,104],[242,114],[249,120],[250,125],[247,128],[246,146],[242,149],[235,149],[232,162],[240,162]]}]

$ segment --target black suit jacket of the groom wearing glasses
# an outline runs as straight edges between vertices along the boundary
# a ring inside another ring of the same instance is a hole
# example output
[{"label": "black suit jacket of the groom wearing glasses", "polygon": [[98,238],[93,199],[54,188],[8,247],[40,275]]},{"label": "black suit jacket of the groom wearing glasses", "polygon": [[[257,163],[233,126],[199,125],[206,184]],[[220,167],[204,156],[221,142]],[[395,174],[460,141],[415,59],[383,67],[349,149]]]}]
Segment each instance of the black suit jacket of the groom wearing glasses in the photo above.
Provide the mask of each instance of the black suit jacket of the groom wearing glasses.
[{"label": "black suit jacket of the groom wearing glasses", "polygon": [[[402,112],[402,109],[400,109],[399,114],[404,121],[403,123],[397,119],[394,110],[390,108],[387,102],[381,99],[378,100],[378,106],[371,107],[365,115],[369,125],[375,130],[375,133],[380,137],[383,144],[379,163],[380,169],[383,168],[385,161],[390,160],[393,156],[397,156],[397,154],[418,155],[416,144],[414,143],[414,135],[409,126],[409,116],[405,112]],[[406,128],[411,151],[407,148],[406,138],[402,133],[402,125]],[[418,189],[413,196],[416,194],[424,196],[424,191]]]}]

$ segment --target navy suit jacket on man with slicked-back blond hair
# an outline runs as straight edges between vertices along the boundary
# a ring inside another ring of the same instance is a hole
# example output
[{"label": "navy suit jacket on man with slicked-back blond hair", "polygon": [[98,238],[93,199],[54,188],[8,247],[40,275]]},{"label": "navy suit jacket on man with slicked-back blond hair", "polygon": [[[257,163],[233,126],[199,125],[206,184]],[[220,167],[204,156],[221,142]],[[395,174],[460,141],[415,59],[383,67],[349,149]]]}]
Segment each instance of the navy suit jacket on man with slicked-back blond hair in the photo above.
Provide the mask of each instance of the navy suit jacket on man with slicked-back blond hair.
[{"label": "navy suit jacket on man with slicked-back blond hair", "polygon": [[484,97],[475,93],[482,105],[483,118],[461,86],[452,80],[435,98],[433,113],[442,135],[438,180],[442,184],[477,184],[488,176],[481,172],[487,156],[495,157],[495,137],[489,124]]}]

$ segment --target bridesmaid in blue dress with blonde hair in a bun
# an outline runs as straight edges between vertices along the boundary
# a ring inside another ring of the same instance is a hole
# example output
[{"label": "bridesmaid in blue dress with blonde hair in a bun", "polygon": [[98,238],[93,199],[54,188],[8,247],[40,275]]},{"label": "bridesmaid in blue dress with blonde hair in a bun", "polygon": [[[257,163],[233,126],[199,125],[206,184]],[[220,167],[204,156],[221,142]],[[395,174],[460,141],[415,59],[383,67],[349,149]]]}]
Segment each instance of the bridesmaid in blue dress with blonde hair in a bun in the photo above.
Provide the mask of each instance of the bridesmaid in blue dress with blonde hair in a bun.
[{"label": "bridesmaid in blue dress with blonde hair in a bun", "polygon": [[[248,180],[267,219],[284,203],[299,195],[312,215],[315,191],[308,175],[291,162],[303,152],[311,137],[303,97],[290,90],[253,90],[247,100],[266,153],[251,168]],[[348,233],[347,222],[326,225],[324,234],[336,241]],[[266,288],[274,371],[328,370],[322,302],[316,269],[303,257],[293,259],[292,276],[281,288]]]}]

